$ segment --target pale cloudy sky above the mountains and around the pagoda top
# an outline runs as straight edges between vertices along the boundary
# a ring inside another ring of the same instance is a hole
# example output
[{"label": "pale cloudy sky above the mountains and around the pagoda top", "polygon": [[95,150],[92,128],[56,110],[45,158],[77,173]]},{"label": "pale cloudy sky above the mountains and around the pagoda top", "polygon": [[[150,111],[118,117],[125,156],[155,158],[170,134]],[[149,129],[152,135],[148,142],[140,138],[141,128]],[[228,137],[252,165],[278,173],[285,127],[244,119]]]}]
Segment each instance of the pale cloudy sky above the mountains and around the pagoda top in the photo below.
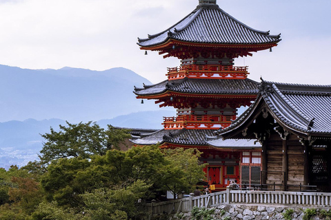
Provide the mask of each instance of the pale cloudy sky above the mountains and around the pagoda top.
[{"label": "pale cloudy sky above the mountains and around the pagoda top", "polygon": [[[0,64],[27,69],[126,67],[152,83],[177,58],[139,49],[137,37],[180,21],[198,0],[0,0]],[[330,0],[217,0],[246,25],[282,41],[272,52],[238,58],[253,80],[331,84]],[[139,86],[139,85],[138,85]]]}]

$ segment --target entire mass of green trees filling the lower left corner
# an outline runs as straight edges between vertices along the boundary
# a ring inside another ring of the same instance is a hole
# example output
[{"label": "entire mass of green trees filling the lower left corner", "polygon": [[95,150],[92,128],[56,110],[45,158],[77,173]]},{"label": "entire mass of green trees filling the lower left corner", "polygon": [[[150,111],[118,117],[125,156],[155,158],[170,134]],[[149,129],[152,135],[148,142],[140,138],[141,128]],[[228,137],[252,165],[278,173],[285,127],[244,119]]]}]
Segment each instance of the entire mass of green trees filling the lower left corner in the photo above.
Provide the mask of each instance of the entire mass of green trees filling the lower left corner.
[{"label": "entire mass of green trees filling the lower left corner", "polygon": [[0,169],[0,219],[140,219],[141,201],[191,192],[204,177],[199,151],[119,151],[128,131],[91,122],[60,128],[43,135],[41,162]]}]

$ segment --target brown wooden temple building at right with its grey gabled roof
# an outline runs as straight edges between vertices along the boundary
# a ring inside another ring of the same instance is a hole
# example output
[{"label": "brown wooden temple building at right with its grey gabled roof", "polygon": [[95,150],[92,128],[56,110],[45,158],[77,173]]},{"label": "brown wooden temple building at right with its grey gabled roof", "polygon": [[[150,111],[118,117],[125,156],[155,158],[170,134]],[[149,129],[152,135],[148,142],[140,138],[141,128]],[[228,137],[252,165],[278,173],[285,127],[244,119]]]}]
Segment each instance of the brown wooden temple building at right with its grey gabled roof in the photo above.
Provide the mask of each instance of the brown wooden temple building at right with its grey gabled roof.
[{"label": "brown wooden temple building at right with its grey gabled roof", "polygon": [[331,192],[331,85],[262,80],[254,104],[218,133],[262,144],[262,184]]}]

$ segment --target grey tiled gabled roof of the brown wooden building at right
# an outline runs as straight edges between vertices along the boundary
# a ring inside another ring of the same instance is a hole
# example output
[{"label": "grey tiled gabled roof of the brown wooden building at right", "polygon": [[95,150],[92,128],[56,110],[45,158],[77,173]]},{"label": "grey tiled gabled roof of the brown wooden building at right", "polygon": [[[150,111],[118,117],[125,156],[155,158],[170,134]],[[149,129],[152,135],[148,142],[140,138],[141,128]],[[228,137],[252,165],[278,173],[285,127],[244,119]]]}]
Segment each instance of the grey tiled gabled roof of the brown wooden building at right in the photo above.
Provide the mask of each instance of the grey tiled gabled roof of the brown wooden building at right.
[{"label": "grey tiled gabled roof of the brown wooden building at right", "polygon": [[[219,134],[230,137],[261,113],[264,104],[286,130],[303,136],[331,137],[331,85],[299,85],[262,81],[259,96],[237,120]],[[244,125],[245,124],[245,125]]]}]

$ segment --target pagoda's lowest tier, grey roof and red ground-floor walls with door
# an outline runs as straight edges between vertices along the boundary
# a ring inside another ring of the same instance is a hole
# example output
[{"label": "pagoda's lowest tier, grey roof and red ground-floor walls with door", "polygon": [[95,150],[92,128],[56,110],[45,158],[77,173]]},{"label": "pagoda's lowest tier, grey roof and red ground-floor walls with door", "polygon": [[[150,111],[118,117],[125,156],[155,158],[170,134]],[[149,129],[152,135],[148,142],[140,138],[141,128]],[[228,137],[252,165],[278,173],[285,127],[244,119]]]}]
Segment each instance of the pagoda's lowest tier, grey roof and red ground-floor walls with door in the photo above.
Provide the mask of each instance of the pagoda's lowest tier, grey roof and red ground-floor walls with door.
[{"label": "pagoda's lowest tier, grey roof and red ground-floor walls with door", "polygon": [[230,181],[241,184],[257,184],[261,170],[261,144],[254,140],[221,140],[209,130],[159,130],[153,133],[132,135],[131,142],[137,146],[160,144],[160,148],[196,148],[205,166],[205,181],[214,191],[225,190]]}]

